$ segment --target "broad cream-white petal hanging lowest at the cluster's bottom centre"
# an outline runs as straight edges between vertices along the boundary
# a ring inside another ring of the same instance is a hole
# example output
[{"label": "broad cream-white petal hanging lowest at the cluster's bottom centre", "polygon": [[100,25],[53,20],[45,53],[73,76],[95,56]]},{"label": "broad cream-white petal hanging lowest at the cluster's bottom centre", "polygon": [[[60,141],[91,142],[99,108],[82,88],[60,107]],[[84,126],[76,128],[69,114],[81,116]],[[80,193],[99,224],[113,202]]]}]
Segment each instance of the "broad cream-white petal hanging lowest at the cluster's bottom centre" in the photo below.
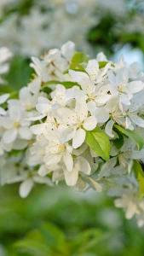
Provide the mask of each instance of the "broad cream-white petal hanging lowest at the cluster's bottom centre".
[{"label": "broad cream-white petal hanging lowest at the cluster's bottom centre", "polygon": [[66,179],[66,184],[68,186],[74,186],[78,182],[78,169],[77,167],[74,167],[72,172],[67,172],[67,170],[64,170],[64,176]]}]

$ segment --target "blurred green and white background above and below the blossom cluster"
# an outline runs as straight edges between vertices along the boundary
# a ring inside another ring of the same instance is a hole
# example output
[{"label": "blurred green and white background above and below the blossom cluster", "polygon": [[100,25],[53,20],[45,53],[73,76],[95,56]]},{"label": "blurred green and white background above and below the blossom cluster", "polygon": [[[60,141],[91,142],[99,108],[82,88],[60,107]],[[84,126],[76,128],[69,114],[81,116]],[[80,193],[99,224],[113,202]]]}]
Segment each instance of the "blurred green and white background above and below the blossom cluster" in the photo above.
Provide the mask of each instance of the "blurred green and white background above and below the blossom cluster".
[{"label": "blurred green and white background above and below the blossom cluster", "polygon": [[[0,0],[0,47],[13,53],[0,94],[26,86],[31,56],[68,40],[91,57],[144,68],[143,0]],[[144,229],[106,195],[39,185],[21,199],[0,188],[0,256],[143,256]]]}]

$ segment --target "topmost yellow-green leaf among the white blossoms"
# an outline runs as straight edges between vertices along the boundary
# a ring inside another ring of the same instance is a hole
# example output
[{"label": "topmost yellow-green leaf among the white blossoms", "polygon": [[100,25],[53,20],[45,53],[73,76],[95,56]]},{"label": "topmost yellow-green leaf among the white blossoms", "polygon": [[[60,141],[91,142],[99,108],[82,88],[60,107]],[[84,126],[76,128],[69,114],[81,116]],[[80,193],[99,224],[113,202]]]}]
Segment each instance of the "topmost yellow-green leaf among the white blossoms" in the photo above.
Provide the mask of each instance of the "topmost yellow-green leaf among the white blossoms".
[{"label": "topmost yellow-green leaf among the white blossoms", "polygon": [[82,52],[76,52],[72,57],[72,61],[70,64],[70,69],[84,71],[84,63],[87,63],[88,56],[84,55]]}]

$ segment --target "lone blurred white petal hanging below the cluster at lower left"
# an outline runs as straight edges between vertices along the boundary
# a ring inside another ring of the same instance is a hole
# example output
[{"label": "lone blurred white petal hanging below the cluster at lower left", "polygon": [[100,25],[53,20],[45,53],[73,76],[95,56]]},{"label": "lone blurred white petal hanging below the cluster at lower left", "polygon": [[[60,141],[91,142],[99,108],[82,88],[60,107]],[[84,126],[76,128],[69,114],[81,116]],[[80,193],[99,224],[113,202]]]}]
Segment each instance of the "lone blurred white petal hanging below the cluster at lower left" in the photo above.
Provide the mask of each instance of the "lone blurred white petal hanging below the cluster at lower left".
[{"label": "lone blurred white petal hanging below the cluster at lower left", "polygon": [[31,192],[33,187],[32,178],[26,179],[23,183],[20,183],[19,193],[22,198],[26,198],[27,195]]}]

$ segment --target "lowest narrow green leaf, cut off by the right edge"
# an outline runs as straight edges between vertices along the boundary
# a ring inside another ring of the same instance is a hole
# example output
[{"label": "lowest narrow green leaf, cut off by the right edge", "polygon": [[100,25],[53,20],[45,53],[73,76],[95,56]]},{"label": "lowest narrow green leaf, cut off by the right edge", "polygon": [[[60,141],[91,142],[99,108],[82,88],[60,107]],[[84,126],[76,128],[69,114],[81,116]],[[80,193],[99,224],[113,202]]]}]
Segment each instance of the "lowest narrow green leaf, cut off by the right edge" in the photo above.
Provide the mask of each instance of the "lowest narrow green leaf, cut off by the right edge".
[{"label": "lowest narrow green leaf, cut off by the right edge", "polygon": [[144,172],[142,170],[141,164],[137,160],[134,160],[133,168],[135,171],[137,181],[139,183],[140,197],[143,197],[144,196]]}]

